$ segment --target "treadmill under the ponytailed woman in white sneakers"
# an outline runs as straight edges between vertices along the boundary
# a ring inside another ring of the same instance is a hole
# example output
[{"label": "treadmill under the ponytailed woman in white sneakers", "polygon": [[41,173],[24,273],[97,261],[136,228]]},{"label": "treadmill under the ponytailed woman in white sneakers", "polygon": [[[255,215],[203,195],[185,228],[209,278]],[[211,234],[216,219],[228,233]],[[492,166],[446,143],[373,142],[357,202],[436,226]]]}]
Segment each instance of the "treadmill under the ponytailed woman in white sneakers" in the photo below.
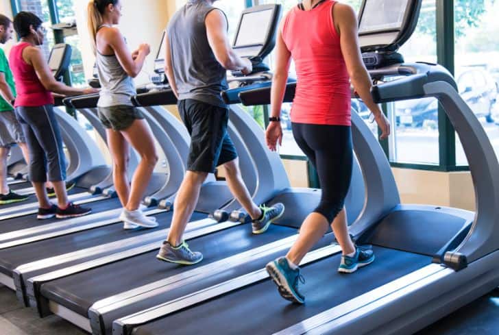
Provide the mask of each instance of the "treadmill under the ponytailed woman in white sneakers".
[{"label": "treadmill under the ponytailed woman in white sneakers", "polygon": [[[173,193],[180,186],[184,174],[182,159],[160,124],[147,112],[145,117],[158,147],[165,153],[168,169],[168,173],[157,173],[151,179],[146,195],[155,197],[158,190],[170,190]],[[57,266],[69,266],[124,249],[132,249],[147,243],[151,236],[156,236],[156,241],[158,236],[166,234],[160,229],[167,226],[171,217],[171,213],[166,213],[166,210],[149,210],[146,214],[163,213],[158,217],[160,227],[125,231],[118,218],[122,209],[117,197],[95,203],[94,209],[96,206],[100,212],[64,221],[40,223],[26,218],[3,221],[9,224],[0,225],[0,232],[3,232],[0,234],[0,283],[17,290],[19,297],[25,300],[25,286],[22,280],[25,271],[33,271],[34,268],[38,271],[53,270]]]}]

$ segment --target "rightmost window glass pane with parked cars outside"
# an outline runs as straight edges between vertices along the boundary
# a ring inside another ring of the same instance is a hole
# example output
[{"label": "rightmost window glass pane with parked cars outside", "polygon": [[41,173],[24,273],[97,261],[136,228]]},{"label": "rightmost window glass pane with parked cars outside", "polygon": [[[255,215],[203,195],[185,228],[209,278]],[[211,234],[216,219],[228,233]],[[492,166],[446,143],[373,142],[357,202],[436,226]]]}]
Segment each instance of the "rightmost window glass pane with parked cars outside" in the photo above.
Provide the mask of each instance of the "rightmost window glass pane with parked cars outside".
[{"label": "rightmost window glass pane with parked cars outside", "polygon": [[[455,0],[455,72],[459,94],[499,151],[499,2]],[[467,165],[456,137],[457,165]]]}]

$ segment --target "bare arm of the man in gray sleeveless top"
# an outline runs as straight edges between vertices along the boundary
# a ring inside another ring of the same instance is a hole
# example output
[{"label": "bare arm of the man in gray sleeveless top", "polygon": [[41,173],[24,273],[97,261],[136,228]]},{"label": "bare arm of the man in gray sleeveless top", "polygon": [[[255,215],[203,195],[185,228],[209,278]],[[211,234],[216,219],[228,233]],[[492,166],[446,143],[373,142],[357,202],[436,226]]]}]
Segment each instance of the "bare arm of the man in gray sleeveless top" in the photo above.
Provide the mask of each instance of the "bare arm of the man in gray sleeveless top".
[{"label": "bare arm of the man in gray sleeveless top", "polygon": [[236,55],[230,47],[227,36],[227,20],[223,13],[220,10],[212,10],[206,15],[205,23],[208,42],[221,66],[230,71],[250,73],[252,71],[251,62]]}]

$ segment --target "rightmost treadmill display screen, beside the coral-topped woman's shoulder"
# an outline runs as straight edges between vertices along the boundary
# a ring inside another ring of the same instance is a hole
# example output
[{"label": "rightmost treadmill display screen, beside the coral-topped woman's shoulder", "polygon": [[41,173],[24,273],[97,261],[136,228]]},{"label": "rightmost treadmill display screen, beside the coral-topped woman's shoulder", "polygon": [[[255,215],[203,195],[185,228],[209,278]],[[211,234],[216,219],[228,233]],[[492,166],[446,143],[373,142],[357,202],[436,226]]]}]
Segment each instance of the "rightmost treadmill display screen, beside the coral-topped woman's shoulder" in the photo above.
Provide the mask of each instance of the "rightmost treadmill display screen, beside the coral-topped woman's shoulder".
[{"label": "rightmost treadmill display screen, beside the coral-topped woman's shoulder", "polygon": [[409,0],[367,0],[359,33],[402,29]]}]

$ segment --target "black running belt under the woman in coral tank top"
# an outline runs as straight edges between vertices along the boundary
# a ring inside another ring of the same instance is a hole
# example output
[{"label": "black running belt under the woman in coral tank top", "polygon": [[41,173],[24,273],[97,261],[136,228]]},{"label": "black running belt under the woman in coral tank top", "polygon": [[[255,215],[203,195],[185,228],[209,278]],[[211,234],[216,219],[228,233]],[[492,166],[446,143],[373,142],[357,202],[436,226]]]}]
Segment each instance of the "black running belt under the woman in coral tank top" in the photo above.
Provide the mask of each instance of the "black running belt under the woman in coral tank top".
[{"label": "black running belt under the woman in coral tank top", "polygon": [[271,280],[236,290],[134,329],[134,335],[159,335],[165,330],[182,334],[273,334],[338,306],[422,266],[431,258],[415,253],[373,247],[373,264],[352,274],[337,272],[340,255],[304,266],[303,306],[282,299]]}]

